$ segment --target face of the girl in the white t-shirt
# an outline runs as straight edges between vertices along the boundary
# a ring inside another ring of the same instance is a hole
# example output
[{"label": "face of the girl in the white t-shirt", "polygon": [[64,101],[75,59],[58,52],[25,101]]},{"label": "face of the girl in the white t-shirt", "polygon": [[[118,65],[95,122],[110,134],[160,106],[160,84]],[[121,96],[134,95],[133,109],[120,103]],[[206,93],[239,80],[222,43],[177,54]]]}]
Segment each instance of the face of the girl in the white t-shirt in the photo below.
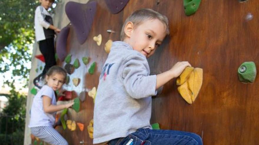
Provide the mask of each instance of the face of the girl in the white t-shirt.
[{"label": "face of the girl in the white t-shirt", "polygon": [[60,73],[53,73],[52,75],[46,75],[47,85],[54,91],[59,90],[64,84],[65,76]]}]

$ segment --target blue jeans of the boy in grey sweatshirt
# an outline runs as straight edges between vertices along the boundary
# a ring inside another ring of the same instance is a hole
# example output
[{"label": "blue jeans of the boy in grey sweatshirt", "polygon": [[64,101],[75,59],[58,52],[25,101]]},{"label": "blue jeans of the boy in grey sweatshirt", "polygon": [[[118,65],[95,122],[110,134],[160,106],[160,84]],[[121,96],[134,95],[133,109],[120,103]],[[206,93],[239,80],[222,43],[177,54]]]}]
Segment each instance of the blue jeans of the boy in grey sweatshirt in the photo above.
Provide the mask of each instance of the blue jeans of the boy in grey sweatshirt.
[{"label": "blue jeans of the boy in grey sweatshirt", "polygon": [[175,130],[138,129],[127,137],[109,141],[109,145],[202,145],[199,135]]}]

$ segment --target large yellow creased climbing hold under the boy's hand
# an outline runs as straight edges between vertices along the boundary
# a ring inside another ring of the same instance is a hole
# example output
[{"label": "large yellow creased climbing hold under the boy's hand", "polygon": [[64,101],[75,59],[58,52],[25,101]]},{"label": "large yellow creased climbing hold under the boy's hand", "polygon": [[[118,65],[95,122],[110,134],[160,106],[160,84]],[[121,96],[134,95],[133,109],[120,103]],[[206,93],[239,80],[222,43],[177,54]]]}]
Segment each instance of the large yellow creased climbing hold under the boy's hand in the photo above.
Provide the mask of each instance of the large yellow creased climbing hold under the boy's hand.
[{"label": "large yellow creased climbing hold under the boy's hand", "polygon": [[202,86],[202,69],[186,67],[182,74],[177,78],[178,92],[182,98],[192,104],[200,91]]}]

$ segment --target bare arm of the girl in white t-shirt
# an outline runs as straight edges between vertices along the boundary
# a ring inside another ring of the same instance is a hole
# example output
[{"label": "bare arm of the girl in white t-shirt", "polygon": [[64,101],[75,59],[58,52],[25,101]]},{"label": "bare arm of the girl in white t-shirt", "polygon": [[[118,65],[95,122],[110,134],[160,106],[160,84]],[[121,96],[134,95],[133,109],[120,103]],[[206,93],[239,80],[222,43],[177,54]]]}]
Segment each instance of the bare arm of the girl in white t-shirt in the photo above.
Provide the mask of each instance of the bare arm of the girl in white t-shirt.
[{"label": "bare arm of the girl in white t-shirt", "polygon": [[65,108],[71,107],[74,102],[67,103],[67,104],[61,104],[61,105],[52,105],[51,104],[52,99],[48,96],[42,96],[42,103],[43,103],[43,110],[46,113],[52,113],[57,112]]}]

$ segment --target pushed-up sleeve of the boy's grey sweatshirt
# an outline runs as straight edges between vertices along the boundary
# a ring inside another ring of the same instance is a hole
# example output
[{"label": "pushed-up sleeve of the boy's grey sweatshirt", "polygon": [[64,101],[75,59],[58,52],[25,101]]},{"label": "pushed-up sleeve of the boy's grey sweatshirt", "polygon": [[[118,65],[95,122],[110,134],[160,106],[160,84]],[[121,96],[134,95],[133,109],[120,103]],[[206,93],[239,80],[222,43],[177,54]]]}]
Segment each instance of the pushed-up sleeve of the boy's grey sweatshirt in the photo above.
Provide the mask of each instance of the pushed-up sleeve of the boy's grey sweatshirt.
[{"label": "pushed-up sleeve of the boy's grey sweatshirt", "polygon": [[122,79],[127,93],[132,98],[140,99],[156,95],[156,75],[149,76],[147,59],[141,54],[130,55],[124,60]]}]

